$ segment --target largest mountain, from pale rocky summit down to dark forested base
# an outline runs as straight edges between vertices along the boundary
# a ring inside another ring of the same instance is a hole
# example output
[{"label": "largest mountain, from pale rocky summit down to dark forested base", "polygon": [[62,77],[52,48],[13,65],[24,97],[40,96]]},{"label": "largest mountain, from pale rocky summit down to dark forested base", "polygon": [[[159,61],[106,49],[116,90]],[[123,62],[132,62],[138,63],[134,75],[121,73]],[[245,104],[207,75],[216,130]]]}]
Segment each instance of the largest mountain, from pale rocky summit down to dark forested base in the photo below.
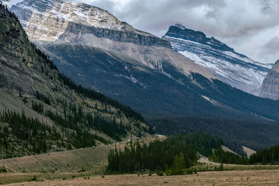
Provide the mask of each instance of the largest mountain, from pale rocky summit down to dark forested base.
[{"label": "largest mountain, from pale rocky summit down to dark forested base", "polygon": [[[262,125],[255,131],[254,123],[248,124],[246,120],[279,121],[278,102],[257,98],[225,84],[172,49],[169,41],[138,31],[105,10],[58,0],[24,0],[11,10],[20,18],[29,39],[50,56],[61,72],[78,84],[133,107],[145,118],[152,118],[152,123],[159,123],[154,125],[156,131],[163,131],[158,127],[167,123],[173,133],[176,126],[179,132],[218,132],[233,136],[234,142],[243,139],[241,146],[252,148],[257,146],[249,145],[252,139],[257,136],[266,139],[269,132],[277,131],[275,124]],[[211,41],[211,47],[229,49],[220,45],[216,40]],[[182,118],[176,118],[179,116]],[[185,116],[194,119],[188,122]],[[238,127],[232,130],[234,124],[223,120],[218,125],[215,121],[206,122],[209,130],[204,130],[205,125],[196,127],[197,130],[180,125],[190,123],[195,127],[204,123],[195,120],[197,117],[234,118],[237,126],[246,130],[243,133],[238,132]],[[169,120],[165,122],[165,118]],[[252,135],[248,135],[250,130]],[[274,136],[269,144],[276,143]]]}]

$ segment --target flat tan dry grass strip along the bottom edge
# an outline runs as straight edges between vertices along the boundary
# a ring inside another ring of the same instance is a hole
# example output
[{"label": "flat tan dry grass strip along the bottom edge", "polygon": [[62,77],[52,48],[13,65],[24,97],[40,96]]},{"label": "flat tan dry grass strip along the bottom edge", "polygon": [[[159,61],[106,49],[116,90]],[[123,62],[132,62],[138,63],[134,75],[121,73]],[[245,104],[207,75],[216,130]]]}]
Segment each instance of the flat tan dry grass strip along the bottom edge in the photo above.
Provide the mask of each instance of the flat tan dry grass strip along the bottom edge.
[{"label": "flat tan dry grass strip along the bottom edge", "polygon": [[[13,176],[14,173],[7,175]],[[0,176],[0,180],[3,175]],[[86,178],[86,179],[85,179]],[[279,170],[209,171],[183,176],[147,174],[90,176],[68,180],[14,183],[11,185],[279,185]]]}]

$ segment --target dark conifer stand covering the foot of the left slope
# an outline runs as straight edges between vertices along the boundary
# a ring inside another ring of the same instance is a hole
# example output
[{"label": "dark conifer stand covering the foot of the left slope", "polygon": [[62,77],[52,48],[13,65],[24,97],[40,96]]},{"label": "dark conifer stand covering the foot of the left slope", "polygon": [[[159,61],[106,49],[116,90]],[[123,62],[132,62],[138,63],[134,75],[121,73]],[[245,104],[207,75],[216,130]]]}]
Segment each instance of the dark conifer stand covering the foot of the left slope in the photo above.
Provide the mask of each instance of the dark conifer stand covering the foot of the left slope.
[{"label": "dark conifer stand covering the foot of the left slope", "polygon": [[70,130],[59,125],[47,125],[26,116],[24,111],[22,114],[0,111],[0,158],[86,148],[96,146],[96,140],[110,143],[82,127]]}]

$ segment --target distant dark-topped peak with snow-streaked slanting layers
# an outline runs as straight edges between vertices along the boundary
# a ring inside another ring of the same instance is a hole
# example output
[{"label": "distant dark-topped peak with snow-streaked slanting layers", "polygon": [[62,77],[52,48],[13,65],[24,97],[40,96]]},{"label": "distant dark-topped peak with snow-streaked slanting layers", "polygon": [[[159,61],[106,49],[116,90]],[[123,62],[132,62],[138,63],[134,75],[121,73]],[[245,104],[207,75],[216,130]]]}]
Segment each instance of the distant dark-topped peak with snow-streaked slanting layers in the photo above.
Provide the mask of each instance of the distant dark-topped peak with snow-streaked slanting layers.
[{"label": "distant dark-topped peak with snow-streaked slanting layers", "polygon": [[186,29],[181,24],[169,26],[163,36],[172,48],[213,72],[223,82],[247,93],[259,95],[262,81],[272,64],[254,61],[239,54],[216,38],[201,31]]}]

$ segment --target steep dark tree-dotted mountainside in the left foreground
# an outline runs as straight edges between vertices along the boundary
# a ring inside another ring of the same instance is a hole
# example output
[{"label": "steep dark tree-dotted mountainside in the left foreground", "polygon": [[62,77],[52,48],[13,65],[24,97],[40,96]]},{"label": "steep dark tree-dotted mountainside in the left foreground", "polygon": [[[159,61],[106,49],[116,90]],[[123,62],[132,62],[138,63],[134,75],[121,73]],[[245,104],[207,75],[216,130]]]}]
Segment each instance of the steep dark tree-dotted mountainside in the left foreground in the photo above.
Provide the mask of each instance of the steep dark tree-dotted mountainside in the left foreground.
[{"label": "steep dark tree-dotted mountainside in the left foreground", "polygon": [[77,86],[0,5],[0,158],[149,136],[135,111]]}]

